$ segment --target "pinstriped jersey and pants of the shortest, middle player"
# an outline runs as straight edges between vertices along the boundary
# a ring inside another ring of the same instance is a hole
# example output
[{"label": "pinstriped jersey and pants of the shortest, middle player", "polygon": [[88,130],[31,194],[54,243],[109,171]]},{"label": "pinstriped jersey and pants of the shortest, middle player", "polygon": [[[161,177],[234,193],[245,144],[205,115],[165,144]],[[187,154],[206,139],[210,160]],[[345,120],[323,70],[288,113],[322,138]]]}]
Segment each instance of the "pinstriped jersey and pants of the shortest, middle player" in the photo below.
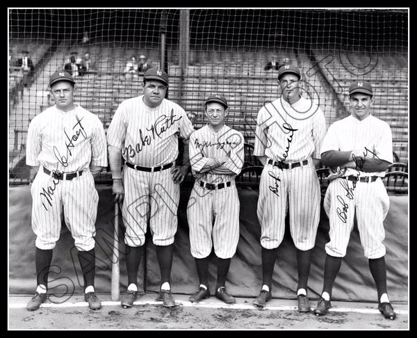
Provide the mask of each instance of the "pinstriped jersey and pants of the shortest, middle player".
[{"label": "pinstriped jersey and pants of the shortest, middle player", "polygon": [[[207,124],[190,136],[195,184],[188,200],[187,218],[191,255],[195,258],[207,257],[213,246],[215,255],[222,259],[231,258],[236,252],[240,202],[235,177],[243,168],[244,143],[243,135],[227,125],[215,132]],[[218,156],[229,156],[221,167],[233,174],[200,172],[208,159]]]}]

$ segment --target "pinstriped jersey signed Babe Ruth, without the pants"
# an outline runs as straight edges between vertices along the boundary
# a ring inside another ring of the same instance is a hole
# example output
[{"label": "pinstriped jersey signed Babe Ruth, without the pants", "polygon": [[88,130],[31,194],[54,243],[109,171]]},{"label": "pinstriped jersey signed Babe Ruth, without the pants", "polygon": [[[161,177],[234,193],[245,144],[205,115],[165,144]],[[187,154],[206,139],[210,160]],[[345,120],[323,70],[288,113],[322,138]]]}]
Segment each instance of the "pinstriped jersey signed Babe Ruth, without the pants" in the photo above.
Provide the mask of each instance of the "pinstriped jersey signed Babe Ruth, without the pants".
[{"label": "pinstriped jersey signed Babe Ruth, without the pants", "polygon": [[122,150],[125,161],[144,167],[172,163],[178,156],[178,138],[194,131],[186,112],[163,99],[156,108],[143,103],[143,95],[126,99],[117,108],[107,131],[107,142]]}]

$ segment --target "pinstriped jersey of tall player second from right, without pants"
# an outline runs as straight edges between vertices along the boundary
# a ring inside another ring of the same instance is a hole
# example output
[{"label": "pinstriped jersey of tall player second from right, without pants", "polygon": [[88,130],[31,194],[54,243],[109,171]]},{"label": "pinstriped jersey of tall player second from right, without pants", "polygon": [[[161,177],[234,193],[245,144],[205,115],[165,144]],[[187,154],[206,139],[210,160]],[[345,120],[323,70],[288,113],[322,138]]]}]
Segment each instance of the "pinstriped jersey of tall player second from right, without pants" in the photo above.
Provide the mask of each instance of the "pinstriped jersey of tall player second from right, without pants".
[{"label": "pinstriped jersey of tall player second from right, without pants", "polygon": [[289,104],[276,99],[261,108],[256,119],[255,156],[274,161],[320,159],[325,136],[325,116],[320,107],[301,97]]}]

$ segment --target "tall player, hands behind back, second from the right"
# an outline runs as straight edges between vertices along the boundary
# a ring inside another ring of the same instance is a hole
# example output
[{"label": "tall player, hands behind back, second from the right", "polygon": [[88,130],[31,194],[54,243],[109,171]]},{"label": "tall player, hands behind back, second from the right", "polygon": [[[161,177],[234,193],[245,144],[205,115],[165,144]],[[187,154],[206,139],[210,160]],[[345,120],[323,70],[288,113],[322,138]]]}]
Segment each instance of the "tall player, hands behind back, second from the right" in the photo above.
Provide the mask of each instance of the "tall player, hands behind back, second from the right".
[{"label": "tall player, hands behind back, second from the right", "polygon": [[263,286],[254,306],[265,307],[272,298],[272,273],[289,209],[291,236],[297,249],[298,310],[309,312],[307,282],[320,217],[316,168],[320,164],[326,124],[321,109],[300,95],[300,79],[297,67],[280,67],[281,98],[263,106],[256,121],[254,155],[259,156],[265,167],[257,209],[261,223]]}]

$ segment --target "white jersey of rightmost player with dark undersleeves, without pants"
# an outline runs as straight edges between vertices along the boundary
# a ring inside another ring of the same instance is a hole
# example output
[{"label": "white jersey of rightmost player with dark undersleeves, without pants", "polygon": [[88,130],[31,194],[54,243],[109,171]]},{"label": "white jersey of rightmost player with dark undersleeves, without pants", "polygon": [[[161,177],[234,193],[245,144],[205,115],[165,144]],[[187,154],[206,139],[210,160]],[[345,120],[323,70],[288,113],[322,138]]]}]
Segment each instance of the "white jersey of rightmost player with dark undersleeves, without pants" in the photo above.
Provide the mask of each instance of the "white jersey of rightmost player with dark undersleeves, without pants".
[{"label": "white jersey of rightmost player with dark undersleeves, without pants", "polygon": [[[362,121],[352,115],[347,116],[329,127],[321,152],[329,150],[345,152],[357,149],[365,151],[365,161],[366,158],[378,158],[393,163],[393,138],[389,124],[373,115]],[[363,172],[347,168],[345,176],[350,175],[384,177],[385,172]]]}]

